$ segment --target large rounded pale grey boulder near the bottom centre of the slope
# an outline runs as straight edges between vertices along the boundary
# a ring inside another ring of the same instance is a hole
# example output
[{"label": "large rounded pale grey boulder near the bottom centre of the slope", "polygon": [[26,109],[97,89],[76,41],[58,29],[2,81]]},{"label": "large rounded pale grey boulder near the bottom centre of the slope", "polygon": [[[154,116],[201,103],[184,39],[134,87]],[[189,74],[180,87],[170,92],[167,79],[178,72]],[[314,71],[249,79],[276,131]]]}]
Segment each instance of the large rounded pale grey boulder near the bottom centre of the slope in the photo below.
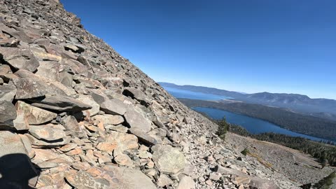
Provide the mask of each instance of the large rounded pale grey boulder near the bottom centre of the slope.
[{"label": "large rounded pale grey boulder near the bottom centre of the slope", "polygon": [[159,171],[164,174],[177,174],[185,167],[186,158],[178,149],[169,145],[155,145],[152,147],[153,161]]}]

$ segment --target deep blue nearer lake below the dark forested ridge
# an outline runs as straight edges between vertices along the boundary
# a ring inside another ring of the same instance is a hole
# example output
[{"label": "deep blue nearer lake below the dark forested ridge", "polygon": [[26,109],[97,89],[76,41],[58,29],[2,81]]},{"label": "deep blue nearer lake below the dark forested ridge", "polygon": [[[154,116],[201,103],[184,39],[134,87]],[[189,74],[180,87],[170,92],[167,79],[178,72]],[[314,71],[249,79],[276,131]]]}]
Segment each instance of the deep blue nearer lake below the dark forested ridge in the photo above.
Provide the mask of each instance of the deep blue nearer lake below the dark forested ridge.
[{"label": "deep blue nearer lake below the dark forested ridge", "polygon": [[228,123],[241,125],[246,130],[248,130],[248,132],[252,134],[260,134],[263,132],[274,132],[278,134],[286,134],[292,137],[303,137],[306,139],[311,139],[313,141],[325,140],[325,139],[321,139],[318,137],[311,137],[307,134],[300,134],[297,132],[292,132],[290,130],[283,129],[273,123],[269,123],[265,120],[260,120],[258,118],[251,118],[251,117],[244,116],[238,113],[232,113],[232,112],[223,111],[220,109],[211,109],[211,108],[204,108],[204,107],[195,107],[193,108],[193,110],[207,113],[211,118],[214,118],[214,119],[221,119],[225,117]]}]

